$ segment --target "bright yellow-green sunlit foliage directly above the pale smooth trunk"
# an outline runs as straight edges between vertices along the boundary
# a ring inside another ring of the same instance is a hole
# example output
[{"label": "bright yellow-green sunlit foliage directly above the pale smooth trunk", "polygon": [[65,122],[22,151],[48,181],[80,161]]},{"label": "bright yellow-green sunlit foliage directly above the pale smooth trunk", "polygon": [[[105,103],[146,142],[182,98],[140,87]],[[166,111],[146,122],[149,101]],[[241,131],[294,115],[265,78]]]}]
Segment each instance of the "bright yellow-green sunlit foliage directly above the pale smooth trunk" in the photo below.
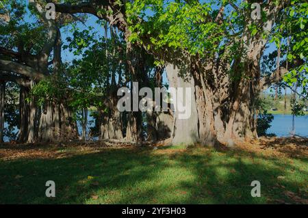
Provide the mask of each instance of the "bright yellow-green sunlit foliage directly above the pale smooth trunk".
[{"label": "bright yellow-green sunlit foliage directly above the pale smooth trunk", "polygon": [[[151,16],[147,16],[146,12]],[[215,12],[210,3],[198,1],[164,3],[139,0],[127,3],[129,24],[133,31],[131,41],[149,38],[151,46],[149,44],[148,49],[169,47],[186,50],[192,55],[205,51],[209,55],[214,54],[224,31],[223,25],[208,21]]]}]

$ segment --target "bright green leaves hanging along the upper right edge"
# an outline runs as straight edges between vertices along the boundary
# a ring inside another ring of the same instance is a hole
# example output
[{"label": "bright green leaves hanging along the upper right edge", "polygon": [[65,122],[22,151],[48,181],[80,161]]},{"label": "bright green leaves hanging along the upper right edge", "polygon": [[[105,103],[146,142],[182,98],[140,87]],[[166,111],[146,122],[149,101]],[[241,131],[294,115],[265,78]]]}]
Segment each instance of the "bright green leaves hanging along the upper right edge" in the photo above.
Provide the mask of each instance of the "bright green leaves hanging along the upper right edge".
[{"label": "bright green leaves hanging along the upper right edge", "polygon": [[281,46],[281,59],[287,62],[289,73],[283,81],[289,87],[300,87],[301,97],[307,99],[308,81],[308,3],[294,0],[285,8],[277,22],[270,42]]}]

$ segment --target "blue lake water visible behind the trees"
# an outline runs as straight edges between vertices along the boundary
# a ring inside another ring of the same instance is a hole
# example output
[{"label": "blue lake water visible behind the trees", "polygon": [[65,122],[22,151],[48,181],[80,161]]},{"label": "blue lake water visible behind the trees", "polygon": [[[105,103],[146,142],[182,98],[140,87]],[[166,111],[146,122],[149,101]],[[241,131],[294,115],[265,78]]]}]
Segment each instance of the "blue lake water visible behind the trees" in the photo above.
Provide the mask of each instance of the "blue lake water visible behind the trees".
[{"label": "blue lake water visible behind the trees", "polygon": [[[93,118],[89,115],[88,120],[93,120]],[[292,115],[274,115],[274,120],[272,121],[271,125],[272,126],[268,129],[268,133],[274,133],[278,137],[290,136],[290,132],[292,131]],[[78,125],[78,127],[81,134],[81,126]],[[308,115],[295,117],[295,134],[308,137]],[[4,140],[8,141],[7,138]]]}]

